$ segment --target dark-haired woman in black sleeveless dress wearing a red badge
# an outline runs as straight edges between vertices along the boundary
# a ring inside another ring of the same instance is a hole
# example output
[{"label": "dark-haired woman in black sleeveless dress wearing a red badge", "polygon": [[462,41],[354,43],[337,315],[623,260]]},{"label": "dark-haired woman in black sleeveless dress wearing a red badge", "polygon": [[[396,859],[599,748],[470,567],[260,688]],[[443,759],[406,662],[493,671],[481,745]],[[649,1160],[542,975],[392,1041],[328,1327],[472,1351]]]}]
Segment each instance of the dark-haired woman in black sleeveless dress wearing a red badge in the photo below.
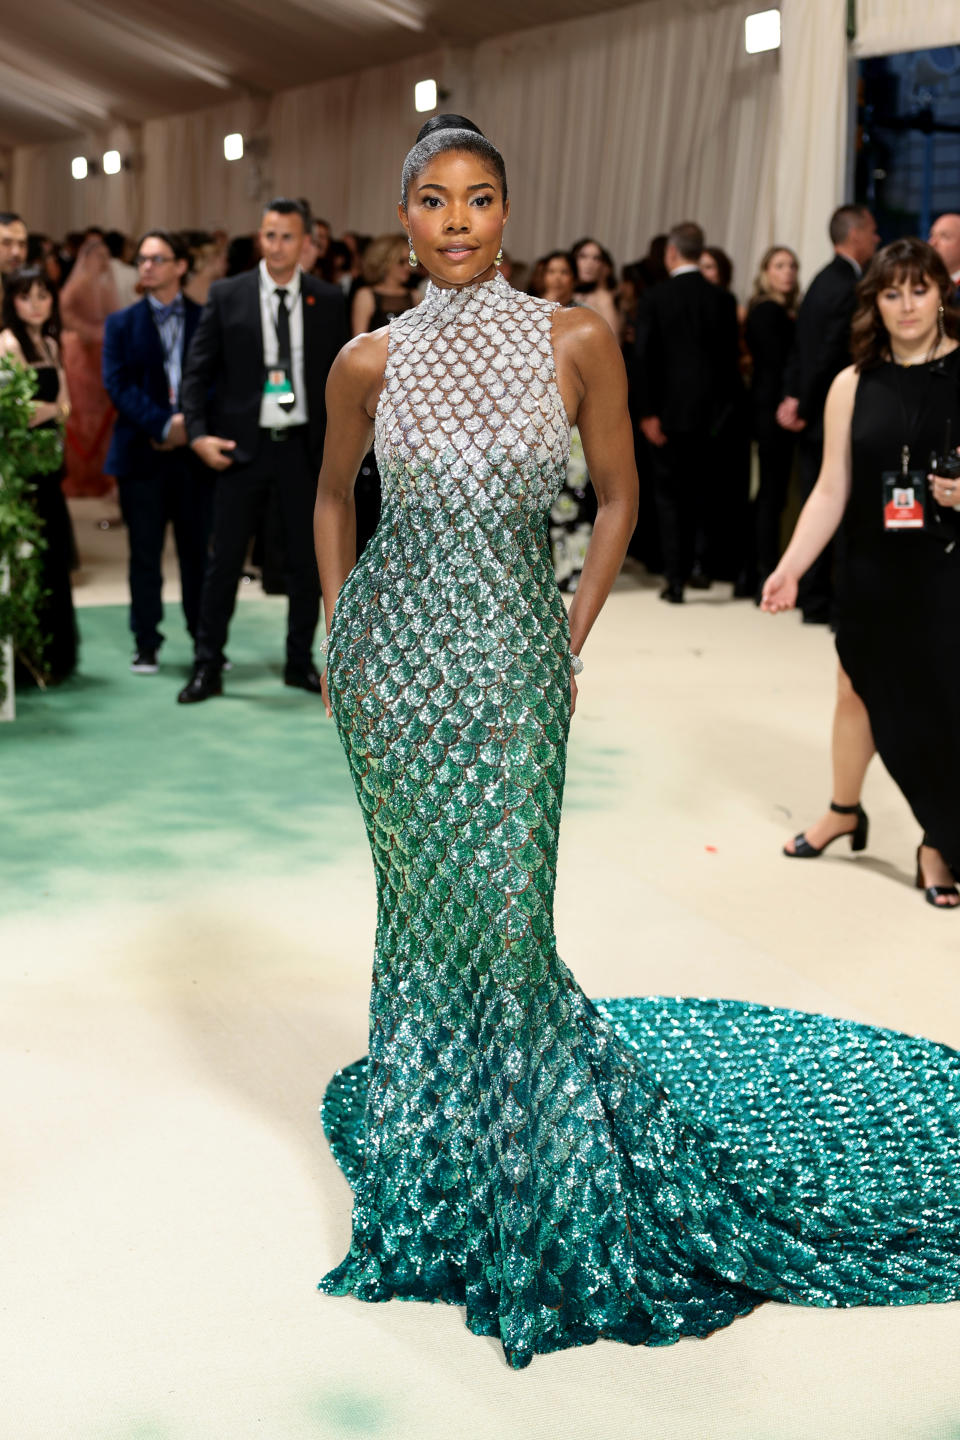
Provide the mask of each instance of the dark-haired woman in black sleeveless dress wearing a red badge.
[{"label": "dark-haired woman in black sleeveless dress wearing a red badge", "polygon": [[828,396],[820,477],[763,592],[766,611],[790,609],[842,521],[836,649],[924,829],[917,886],[938,909],[960,904],[960,481],[931,465],[960,436],[951,289],[940,256],[914,239],[888,245],[861,281],[855,363]]}]

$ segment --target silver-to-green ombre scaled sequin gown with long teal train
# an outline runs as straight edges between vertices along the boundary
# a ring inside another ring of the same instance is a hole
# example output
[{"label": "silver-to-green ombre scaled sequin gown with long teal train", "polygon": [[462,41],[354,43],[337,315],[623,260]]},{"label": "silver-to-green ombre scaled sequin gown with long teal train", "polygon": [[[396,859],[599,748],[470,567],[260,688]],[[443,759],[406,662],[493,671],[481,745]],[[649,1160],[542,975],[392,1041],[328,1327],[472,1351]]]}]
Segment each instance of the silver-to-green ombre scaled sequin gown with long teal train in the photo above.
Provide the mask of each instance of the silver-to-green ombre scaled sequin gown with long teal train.
[{"label": "silver-to-green ombre scaled sequin gown with long teal train", "polygon": [[328,660],[379,920],[370,1054],[324,1103],[356,1195],[321,1289],[465,1306],[517,1368],[764,1299],[957,1299],[954,1051],[738,1001],[590,1001],[557,956],[551,315],[495,276],[390,325],[383,517]]}]

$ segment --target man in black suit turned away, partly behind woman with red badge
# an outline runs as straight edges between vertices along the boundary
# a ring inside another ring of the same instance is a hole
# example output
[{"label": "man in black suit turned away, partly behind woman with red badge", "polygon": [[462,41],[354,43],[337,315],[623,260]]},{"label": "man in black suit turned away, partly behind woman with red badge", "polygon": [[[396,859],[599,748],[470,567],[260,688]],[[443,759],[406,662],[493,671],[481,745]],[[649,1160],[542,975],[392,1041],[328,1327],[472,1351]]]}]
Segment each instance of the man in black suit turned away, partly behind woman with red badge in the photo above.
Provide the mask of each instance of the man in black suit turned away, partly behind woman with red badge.
[{"label": "man in black suit turned away, partly behind woman with red badge", "polygon": [[[823,406],[836,376],[851,363],[851,321],[856,284],[877,252],[874,216],[862,204],[842,204],[830,216],[835,255],[803,297],[779,423],[800,435],[800,488],[806,500],[823,459]],[[833,553],[828,546],[800,580],[797,603],[807,625],[828,625],[833,600]]]}]

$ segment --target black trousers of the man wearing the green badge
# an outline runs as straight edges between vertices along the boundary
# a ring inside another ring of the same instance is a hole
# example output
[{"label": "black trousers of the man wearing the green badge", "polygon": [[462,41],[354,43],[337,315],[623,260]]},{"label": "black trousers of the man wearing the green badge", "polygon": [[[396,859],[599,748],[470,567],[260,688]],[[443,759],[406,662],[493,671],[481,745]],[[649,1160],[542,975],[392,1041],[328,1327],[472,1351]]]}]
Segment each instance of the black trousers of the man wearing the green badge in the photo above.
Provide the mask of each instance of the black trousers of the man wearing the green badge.
[{"label": "black trousers of the man wearing the green badge", "polygon": [[271,511],[281,527],[284,588],[289,598],[286,665],[296,671],[312,665],[320,619],[314,552],[317,467],[309,458],[305,425],[281,432],[285,439],[272,439],[271,433],[261,431],[252,461],[220,471],[216,480],[210,557],[197,628],[197,662],[203,665],[223,664],[246,547],[261,517]]}]

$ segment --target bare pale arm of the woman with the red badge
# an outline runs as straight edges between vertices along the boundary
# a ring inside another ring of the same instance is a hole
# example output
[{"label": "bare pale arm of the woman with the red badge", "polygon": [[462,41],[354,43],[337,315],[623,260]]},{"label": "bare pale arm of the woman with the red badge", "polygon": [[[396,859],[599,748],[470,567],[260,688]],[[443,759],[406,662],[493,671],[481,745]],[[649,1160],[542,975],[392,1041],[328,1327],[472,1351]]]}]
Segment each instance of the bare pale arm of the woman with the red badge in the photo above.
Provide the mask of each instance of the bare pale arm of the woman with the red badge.
[{"label": "bare pale arm of the woman with the red badge", "polygon": [[851,495],[851,422],[859,373],[841,370],[823,412],[823,462],[810,498],[800,511],[793,539],[763,588],[761,609],[776,615],[796,605],[797,583],[836,534]]}]

